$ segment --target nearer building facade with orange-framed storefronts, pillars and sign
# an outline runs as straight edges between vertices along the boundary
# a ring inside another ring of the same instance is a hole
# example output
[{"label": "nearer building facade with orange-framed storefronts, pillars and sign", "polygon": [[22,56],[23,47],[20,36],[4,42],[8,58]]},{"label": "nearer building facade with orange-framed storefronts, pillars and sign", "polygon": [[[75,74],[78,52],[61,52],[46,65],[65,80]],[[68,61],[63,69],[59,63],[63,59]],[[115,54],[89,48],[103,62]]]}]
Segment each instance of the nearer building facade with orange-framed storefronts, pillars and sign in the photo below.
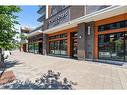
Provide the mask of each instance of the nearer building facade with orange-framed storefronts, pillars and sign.
[{"label": "nearer building facade with orange-framed storefronts, pillars and sign", "polygon": [[124,62],[127,6],[49,6],[39,35],[44,55]]}]

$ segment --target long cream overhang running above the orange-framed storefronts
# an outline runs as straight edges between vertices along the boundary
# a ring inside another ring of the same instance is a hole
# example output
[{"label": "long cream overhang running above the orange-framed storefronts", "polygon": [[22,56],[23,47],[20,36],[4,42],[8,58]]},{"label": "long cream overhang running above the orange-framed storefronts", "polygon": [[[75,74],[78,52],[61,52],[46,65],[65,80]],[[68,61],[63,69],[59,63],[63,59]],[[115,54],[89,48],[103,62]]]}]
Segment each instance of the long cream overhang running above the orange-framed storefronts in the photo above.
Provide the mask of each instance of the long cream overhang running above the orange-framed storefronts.
[{"label": "long cream overhang running above the orange-framed storefronts", "polygon": [[83,22],[98,21],[101,19],[109,18],[112,16],[124,14],[124,13],[127,13],[127,6],[111,6],[111,7],[107,7],[105,9],[93,12],[91,14],[82,16],[80,18],[74,19],[72,21],[66,22],[59,26],[53,27],[51,29],[47,29],[42,32],[45,34],[55,33],[58,31],[76,27],[78,24]]}]

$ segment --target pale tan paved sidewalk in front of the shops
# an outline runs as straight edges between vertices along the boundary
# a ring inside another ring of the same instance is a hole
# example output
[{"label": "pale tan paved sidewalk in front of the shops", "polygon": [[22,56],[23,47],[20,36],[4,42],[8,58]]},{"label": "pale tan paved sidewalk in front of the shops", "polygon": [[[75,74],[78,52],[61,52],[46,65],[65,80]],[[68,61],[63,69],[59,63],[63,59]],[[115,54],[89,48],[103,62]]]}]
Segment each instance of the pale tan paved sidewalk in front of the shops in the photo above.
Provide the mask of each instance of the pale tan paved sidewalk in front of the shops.
[{"label": "pale tan paved sidewalk in front of the shops", "polygon": [[127,69],[121,66],[14,51],[7,61],[20,80],[34,81],[48,70],[77,82],[75,89],[127,89]]}]

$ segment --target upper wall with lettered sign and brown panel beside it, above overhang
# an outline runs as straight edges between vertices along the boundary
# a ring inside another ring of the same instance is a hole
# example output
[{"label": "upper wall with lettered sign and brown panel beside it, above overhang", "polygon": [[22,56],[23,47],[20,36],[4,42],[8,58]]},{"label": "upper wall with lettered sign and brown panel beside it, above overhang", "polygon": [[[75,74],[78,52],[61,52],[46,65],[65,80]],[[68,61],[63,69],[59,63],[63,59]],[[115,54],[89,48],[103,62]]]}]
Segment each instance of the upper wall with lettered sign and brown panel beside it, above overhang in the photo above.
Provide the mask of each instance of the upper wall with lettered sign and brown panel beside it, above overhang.
[{"label": "upper wall with lettered sign and brown panel beside it, above overhang", "polygon": [[[58,11],[52,15],[52,7]],[[60,6],[49,7],[49,18],[44,22],[45,30],[69,22],[84,15],[84,6],[66,6],[61,9]]]}]

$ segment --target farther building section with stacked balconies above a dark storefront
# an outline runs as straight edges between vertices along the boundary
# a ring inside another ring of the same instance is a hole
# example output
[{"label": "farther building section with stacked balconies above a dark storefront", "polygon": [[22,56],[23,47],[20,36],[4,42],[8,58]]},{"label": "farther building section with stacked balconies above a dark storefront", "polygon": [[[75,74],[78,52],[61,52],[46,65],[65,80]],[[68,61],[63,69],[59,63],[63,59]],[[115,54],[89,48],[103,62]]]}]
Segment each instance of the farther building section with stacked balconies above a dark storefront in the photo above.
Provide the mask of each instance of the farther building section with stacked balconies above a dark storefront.
[{"label": "farther building section with stacked balconies above a dark storefront", "polygon": [[40,23],[35,29],[32,29],[28,35],[28,48],[27,51],[35,54],[43,54],[43,33],[42,28],[44,26],[44,21],[47,17],[46,6],[39,6],[37,11],[40,17],[37,21]]}]

